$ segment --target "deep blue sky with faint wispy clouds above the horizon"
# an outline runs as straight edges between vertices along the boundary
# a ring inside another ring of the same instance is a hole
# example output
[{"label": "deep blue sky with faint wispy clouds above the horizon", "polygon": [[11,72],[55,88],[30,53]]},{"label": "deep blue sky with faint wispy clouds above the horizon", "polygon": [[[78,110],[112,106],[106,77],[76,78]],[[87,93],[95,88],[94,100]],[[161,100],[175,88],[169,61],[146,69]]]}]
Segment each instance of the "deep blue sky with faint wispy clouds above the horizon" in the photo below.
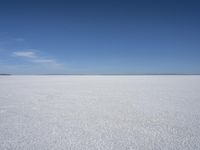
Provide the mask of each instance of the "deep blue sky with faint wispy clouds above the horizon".
[{"label": "deep blue sky with faint wispy clouds above the horizon", "polygon": [[200,1],[1,0],[0,73],[200,73]]}]

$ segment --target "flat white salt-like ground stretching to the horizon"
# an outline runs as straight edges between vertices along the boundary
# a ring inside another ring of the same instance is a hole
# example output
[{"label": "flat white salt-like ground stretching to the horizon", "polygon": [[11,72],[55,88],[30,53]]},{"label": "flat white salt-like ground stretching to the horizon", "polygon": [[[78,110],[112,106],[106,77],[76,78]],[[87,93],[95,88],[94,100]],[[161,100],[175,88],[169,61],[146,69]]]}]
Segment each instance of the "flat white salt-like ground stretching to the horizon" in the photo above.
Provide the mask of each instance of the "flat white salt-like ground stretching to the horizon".
[{"label": "flat white salt-like ground stretching to the horizon", "polygon": [[0,150],[199,150],[200,76],[0,76]]}]

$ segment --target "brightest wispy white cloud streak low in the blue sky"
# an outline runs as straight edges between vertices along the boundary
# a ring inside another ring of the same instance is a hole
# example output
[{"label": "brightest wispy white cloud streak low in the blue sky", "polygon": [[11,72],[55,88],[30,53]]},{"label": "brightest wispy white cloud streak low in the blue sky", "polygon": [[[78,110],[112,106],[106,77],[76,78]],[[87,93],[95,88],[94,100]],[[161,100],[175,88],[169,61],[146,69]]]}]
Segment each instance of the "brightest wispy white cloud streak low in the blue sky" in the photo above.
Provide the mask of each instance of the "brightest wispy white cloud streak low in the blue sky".
[{"label": "brightest wispy white cloud streak low in the blue sky", "polygon": [[55,59],[48,59],[42,56],[39,56],[34,51],[16,51],[12,53],[12,56],[14,57],[22,57],[27,59],[28,61],[32,63],[37,64],[47,64],[47,65],[53,65],[53,66],[61,66],[62,64],[58,63]]}]

